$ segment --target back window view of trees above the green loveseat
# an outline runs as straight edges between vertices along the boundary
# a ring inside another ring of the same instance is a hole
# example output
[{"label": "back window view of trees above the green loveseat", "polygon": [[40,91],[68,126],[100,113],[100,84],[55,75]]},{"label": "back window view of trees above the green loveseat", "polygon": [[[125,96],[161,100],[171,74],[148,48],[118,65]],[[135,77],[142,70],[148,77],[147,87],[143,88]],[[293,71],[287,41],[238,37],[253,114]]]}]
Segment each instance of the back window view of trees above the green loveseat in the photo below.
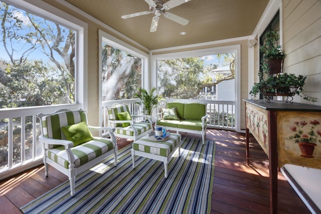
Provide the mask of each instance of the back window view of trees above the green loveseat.
[{"label": "back window view of trees above the green loveseat", "polygon": [[169,98],[235,100],[235,53],[158,60],[157,85]]}]

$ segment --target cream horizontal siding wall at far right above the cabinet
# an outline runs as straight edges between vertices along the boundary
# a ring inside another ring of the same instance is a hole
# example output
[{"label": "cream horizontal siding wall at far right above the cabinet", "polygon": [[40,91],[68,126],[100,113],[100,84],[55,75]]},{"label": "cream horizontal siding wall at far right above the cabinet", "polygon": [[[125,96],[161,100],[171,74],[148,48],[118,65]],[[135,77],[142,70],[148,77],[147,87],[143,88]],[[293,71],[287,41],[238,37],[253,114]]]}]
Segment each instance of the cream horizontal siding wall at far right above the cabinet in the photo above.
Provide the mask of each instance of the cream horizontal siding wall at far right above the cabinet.
[{"label": "cream horizontal siding wall at far right above the cabinet", "polygon": [[321,1],[283,0],[284,71],[306,76],[304,91],[316,103],[294,97],[294,102],[321,105]]}]

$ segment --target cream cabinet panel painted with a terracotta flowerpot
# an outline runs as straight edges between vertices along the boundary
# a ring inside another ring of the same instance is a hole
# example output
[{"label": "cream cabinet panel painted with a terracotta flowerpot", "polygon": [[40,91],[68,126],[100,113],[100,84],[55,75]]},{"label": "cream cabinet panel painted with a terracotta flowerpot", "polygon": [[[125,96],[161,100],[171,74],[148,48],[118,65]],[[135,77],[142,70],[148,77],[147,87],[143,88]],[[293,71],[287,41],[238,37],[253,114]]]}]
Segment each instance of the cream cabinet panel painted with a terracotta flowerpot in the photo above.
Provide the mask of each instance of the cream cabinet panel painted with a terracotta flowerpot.
[{"label": "cream cabinet panel painted with a terracotta flowerpot", "polygon": [[321,168],[321,113],[278,111],[278,165]]}]

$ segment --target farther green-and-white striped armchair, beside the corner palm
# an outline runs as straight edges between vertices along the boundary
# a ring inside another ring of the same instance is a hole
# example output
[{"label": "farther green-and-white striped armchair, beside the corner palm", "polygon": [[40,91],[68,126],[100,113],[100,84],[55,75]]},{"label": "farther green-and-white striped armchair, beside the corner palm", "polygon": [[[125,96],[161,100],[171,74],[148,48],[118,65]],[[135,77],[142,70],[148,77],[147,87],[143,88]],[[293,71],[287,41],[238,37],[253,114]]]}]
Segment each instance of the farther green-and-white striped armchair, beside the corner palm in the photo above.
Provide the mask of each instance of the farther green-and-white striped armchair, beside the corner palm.
[{"label": "farther green-and-white striped armchair, beside the corner palm", "polygon": [[[107,107],[108,126],[115,129],[114,134],[131,140],[137,140],[152,131],[150,115],[130,115],[128,105],[114,104]],[[134,122],[135,118],[141,118],[141,122]]]}]

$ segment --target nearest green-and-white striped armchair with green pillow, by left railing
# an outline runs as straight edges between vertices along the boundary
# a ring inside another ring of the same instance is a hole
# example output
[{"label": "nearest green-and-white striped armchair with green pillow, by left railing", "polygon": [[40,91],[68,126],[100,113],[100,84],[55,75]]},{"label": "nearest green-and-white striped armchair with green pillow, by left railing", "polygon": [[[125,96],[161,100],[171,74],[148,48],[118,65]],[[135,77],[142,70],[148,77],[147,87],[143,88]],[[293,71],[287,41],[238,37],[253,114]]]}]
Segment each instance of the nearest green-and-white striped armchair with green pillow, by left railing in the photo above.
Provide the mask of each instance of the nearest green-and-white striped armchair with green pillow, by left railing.
[{"label": "nearest green-and-white striped armchair with green pillow, by left railing", "polygon": [[[87,112],[62,109],[52,114],[38,114],[42,134],[45,174],[48,164],[63,172],[70,180],[71,196],[75,194],[76,175],[114,155],[117,165],[117,144],[109,127],[88,126]],[[94,137],[90,130],[109,130],[110,138]]]}]

